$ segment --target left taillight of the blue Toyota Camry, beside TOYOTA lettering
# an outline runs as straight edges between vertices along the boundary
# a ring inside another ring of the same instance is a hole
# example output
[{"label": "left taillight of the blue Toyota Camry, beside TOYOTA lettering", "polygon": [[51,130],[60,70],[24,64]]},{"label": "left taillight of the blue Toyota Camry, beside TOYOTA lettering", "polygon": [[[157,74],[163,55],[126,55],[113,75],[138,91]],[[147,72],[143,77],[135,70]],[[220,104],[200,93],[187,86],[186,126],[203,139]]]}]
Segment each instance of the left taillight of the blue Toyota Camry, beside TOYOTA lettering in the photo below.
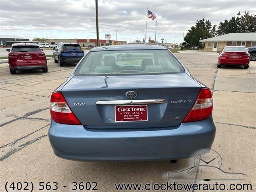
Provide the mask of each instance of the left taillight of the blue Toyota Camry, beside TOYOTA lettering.
[{"label": "left taillight of the blue Toyota Camry, beside TOYOTA lettering", "polygon": [[50,113],[52,120],[61,124],[81,125],[68,106],[61,92],[55,92],[50,100]]}]

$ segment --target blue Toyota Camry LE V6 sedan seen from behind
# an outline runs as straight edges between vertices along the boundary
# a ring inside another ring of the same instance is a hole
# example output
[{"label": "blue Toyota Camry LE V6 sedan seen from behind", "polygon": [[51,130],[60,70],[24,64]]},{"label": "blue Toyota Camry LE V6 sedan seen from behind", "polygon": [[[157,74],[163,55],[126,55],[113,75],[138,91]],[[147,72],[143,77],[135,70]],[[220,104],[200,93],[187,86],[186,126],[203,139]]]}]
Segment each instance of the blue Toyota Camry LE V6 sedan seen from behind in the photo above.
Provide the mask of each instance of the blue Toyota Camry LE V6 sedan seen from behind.
[{"label": "blue Toyota Camry LE V6 sedan seen from behind", "polygon": [[215,136],[211,91],[162,46],[94,48],[53,92],[50,113],[54,153],[73,160],[188,158]]}]

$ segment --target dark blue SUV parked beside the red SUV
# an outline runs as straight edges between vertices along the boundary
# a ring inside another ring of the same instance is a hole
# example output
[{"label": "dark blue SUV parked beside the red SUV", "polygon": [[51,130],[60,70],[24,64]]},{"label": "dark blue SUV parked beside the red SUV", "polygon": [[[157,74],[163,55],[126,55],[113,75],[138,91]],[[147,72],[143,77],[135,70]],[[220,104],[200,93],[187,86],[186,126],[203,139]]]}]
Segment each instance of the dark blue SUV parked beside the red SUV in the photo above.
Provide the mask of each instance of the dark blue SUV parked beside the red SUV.
[{"label": "dark blue SUV parked beside the red SUV", "polygon": [[54,62],[61,67],[67,62],[79,62],[83,56],[84,51],[77,43],[60,43],[53,52]]}]

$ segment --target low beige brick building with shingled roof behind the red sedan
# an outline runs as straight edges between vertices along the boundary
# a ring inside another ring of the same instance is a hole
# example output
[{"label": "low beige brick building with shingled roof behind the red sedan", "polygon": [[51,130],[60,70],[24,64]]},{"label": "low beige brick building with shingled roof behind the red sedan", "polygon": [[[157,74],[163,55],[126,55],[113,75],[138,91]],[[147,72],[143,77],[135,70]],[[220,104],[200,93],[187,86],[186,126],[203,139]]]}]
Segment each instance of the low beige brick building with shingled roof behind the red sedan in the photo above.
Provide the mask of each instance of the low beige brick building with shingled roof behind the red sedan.
[{"label": "low beige brick building with shingled roof behind the red sedan", "polygon": [[208,39],[200,40],[204,42],[204,51],[222,51],[224,46],[256,46],[256,32],[254,33],[229,33]]}]

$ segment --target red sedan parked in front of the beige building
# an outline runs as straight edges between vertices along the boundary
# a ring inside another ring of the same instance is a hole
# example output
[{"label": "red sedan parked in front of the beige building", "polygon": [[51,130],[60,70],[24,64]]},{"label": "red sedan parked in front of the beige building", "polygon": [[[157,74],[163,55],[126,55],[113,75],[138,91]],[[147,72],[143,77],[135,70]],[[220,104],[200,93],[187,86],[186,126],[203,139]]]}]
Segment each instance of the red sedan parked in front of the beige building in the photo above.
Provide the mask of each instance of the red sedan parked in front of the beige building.
[{"label": "red sedan parked in front of the beige building", "polygon": [[218,68],[222,65],[243,65],[245,69],[249,68],[250,54],[244,46],[225,46],[218,53]]}]

